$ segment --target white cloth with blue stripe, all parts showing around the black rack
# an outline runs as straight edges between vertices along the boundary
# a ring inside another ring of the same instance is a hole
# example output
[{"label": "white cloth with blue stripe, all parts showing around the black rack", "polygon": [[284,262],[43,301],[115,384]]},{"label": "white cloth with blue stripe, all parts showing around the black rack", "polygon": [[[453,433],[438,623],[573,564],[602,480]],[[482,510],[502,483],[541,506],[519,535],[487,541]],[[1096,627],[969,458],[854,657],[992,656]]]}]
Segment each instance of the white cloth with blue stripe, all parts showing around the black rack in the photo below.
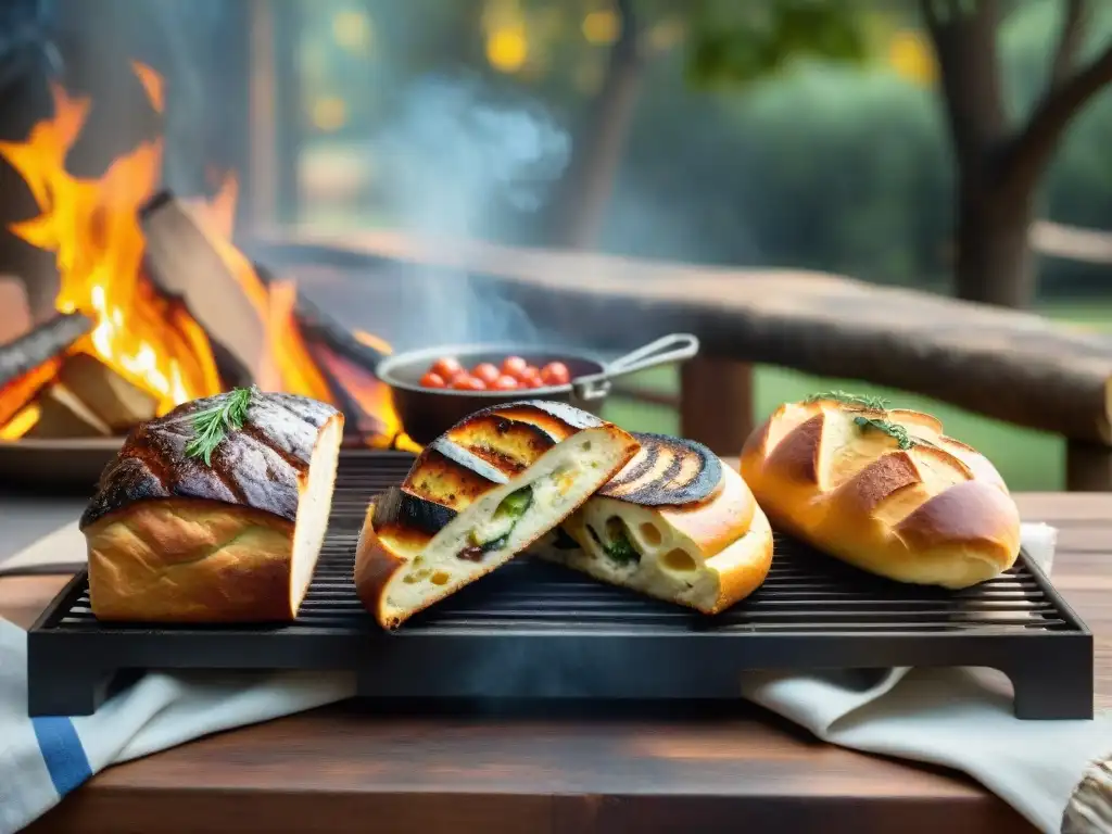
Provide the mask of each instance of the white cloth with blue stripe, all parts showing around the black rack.
[{"label": "white cloth with blue stripe, all parts showing around the black rack", "polygon": [[[1027,552],[1052,568],[1055,530],[1023,526]],[[0,563],[49,564],[69,526]],[[861,673],[749,673],[745,697],[854,749],[964,771],[1044,832],[1058,832],[1086,767],[1112,752],[1112,717],[1034,722],[965,669],[896,668],[862,685]],[[268,721],[355,694],[353,675],[148,674],[87,717],[27,717],[27,637],[0,619],[0,834],[27,825],[92,774],[209,733]]]}]

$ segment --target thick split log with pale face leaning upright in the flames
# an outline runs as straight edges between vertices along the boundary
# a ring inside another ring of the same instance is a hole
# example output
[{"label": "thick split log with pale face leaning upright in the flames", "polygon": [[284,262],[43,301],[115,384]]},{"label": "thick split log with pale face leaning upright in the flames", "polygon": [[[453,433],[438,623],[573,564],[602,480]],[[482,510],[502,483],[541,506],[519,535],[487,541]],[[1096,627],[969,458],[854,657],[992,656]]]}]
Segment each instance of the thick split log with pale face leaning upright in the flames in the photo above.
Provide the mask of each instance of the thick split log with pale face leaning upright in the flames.
[{"label": "thick split log with pale face leaning upright in the flames", "polygon": [[[227,245],[221,246],[222,241],[169,191],[156,195],[139,211],[139,221],[152,282],[166,296],[181,299],[209,340],[216,342],[214,353],[224,366],[221,376],[258,379],[267,355],[261,318],[265,299],[252,298],[245,286],[258,279],[238,276],[231,258],[224,254]],[[246,260],[242,266],[250,270]],[[246,374],[239,373],[237,365]]]}]

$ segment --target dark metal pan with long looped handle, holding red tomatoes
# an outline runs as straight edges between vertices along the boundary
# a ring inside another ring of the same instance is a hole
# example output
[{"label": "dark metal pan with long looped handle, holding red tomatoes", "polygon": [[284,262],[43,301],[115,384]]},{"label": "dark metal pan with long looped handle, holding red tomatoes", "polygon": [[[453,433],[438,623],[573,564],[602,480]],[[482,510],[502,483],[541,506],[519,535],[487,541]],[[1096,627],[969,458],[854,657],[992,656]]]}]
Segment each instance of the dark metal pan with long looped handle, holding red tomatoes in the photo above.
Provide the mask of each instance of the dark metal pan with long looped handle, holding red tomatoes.
[{"label": "dark metal pan with long looped handle, holding red tomatoes", "polygon": [[[538,348],[514,344],[450,345],[394,354],[378,364],[376,375],[390,386],[394,408],[406,434],[414,441],[431,443],[469,414],[503,403],[522,399],[547,399],[570,403],[598,414],[610,393],[612,381],[657,365],[684,361],[698,353],[698,338],[691,334],[671,334],[612,363],[589,354],[565,348]],[[530,365],[543,367],[560,361],[570,371],[568,385],[515,391],[460,391],[450,388],[425,388],[420,378],[440,357],[454,356],[467,368],[479,363],[500,365],[507,356],[520,356]]]}]

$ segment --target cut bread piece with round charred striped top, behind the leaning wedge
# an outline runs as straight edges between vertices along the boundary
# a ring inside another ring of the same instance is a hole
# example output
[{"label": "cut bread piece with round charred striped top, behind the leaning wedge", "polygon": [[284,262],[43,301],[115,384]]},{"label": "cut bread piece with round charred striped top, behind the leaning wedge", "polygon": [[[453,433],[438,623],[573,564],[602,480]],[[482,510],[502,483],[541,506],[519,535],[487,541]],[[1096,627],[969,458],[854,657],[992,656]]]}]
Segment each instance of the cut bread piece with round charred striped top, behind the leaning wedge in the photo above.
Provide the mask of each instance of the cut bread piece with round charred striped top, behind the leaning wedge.
[{"label": "cut bread piece with round charred striped top, behind the leaning wedge", "polygon": [[704,614],[756,590],[772,528],[742,477],[693,440],[634,437],[636,457],[532,553]]}]

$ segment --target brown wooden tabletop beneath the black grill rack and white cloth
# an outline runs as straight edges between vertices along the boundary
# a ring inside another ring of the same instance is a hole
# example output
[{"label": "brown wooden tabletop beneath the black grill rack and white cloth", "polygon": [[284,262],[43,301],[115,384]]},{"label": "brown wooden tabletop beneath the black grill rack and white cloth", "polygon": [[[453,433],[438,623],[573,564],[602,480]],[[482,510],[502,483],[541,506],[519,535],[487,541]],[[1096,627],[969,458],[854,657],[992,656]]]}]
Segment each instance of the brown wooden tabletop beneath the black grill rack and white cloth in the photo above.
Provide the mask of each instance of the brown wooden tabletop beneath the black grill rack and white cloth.
[{"label": "brown wooden tabletop beneath the black grill rack and white cloth", "polygon": [[[1112,705],[1112,494],[1017,496],[1060,528],[1053,577]],[[66,577],[0,579],[29,625]],[[1080,776],[1080,774],[1079,774]],[[29,832],[1031,831],[962,775],[827,746],[756,707],[702,714],[376,715],[341,704],[110,768]]]}]

